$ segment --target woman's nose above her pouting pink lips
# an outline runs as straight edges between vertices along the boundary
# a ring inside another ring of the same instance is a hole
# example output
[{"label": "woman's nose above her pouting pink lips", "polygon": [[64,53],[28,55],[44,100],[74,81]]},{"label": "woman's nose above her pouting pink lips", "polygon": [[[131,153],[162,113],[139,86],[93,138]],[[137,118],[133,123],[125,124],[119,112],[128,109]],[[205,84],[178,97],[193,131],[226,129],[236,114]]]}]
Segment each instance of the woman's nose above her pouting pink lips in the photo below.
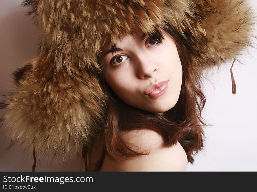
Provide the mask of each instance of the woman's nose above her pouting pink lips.
[{"label": "woman's nose above her pouting pink lips", "polygon": [[136,72],[141,79],[152,77],[158,69],[158,63],[154,55],[138,55],[135,59],[135,65]]}]

